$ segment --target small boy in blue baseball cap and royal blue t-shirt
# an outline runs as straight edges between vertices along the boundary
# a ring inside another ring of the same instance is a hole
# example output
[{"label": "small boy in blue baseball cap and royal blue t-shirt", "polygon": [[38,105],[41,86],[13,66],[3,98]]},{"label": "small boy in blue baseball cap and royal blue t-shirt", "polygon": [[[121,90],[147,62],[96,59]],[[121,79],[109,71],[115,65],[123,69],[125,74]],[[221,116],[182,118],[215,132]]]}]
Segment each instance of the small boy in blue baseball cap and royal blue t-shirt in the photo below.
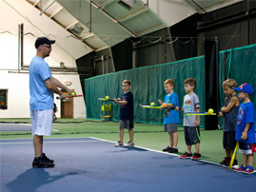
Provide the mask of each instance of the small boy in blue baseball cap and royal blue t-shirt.
[{"label": "small boy in blue baseball cap and royal blue t-shirt", "polygon": [[254,106],[249,97],[253,93],[253,88],[249,84],[239,87],[233,87],[238,90],[238,97],[244,101],[239,106],[236,125],[236,141],[239,142],[239,151],[243,154],[243,164],[239,168],[234,169],[236,172],[244,172],[246,174],[253,173],[253,153],[255,149],[255,127],[254,127]]}]

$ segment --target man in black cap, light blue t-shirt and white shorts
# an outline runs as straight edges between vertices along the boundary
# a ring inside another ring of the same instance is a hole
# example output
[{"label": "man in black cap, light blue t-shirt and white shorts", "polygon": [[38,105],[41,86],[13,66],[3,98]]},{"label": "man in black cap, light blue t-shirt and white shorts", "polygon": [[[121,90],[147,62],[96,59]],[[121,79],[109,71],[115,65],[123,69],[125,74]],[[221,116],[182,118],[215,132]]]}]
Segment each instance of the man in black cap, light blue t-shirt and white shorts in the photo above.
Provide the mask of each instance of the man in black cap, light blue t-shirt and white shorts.
[{"label": "man in black cap, light blue t-shirt and white shorts", "polygon": [[54,40],[39,37],[35,41],[36,56],[30,62],[30,119],[32,125],[34,160],[33,167],[53,167],[54,161],[43,153],[44,136],[51,135],[53,117],[53,93],[65,99],[66,95],[58,88],[72,94],[72,90],[51,76],[45,58],[49,56]]}]

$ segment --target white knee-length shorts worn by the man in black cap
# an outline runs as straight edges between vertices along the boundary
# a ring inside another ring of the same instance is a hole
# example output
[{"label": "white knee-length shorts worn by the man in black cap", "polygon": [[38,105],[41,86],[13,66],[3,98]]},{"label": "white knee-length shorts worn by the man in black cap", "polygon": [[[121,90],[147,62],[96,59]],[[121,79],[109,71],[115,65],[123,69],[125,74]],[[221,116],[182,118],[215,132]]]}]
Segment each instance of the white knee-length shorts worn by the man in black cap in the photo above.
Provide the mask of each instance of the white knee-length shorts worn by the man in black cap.
[{"label": "white knee-length shorts worn by the man in black cap", "polygon": [[53,109],[30,110],[32,135],[50,136],[52,130]]}]

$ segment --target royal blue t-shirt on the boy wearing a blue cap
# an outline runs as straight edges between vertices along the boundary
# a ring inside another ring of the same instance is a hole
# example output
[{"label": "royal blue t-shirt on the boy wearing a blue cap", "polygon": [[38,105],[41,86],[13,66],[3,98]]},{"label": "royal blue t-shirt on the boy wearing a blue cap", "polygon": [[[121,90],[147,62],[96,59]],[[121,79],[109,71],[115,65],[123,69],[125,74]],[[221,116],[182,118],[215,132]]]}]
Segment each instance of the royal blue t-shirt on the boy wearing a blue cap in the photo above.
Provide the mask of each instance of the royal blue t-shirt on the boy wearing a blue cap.
[{"label": "royal blue t-shirt on the boy wearing a blue cap", "polygon": [[[242,132],[246,128],[246,124],[251,123],[248,132],[247,140],[241,139]],[[236,125],[236,141],[243,142],[245,144],[255,143],[255,130],[254,130],[254,106],[251,102],[241,104],[237,114],[237,125]]]}]

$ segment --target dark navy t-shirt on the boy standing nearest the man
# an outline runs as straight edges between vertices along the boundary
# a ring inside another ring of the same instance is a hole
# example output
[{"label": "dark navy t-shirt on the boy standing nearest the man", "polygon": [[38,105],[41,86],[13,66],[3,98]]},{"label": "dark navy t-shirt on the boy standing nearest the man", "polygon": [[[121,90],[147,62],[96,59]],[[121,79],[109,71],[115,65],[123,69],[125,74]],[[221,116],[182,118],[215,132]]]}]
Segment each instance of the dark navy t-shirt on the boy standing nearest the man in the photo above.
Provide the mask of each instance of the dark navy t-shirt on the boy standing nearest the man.
[{"label": "dark navy t-shirt on the boy standing nearest the man", "polygon": [[127,105],[120,105],[120,120],[133,120],[133,95],[129,91],[123,93],[121,97],[122,101],[127,101]]}]

